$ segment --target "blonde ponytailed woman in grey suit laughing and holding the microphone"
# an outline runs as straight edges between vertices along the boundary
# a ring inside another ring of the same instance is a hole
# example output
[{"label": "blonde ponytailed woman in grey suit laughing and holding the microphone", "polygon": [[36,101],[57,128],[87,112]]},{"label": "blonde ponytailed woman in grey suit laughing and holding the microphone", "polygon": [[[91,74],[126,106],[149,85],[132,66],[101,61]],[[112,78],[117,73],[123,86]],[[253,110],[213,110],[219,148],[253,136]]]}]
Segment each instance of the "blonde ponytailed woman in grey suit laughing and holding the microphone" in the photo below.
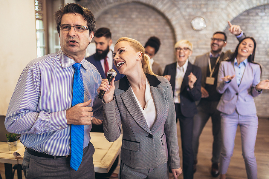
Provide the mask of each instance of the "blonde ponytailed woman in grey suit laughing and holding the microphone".
[{"label": "blonde ponytailed woman in grey suit laughing and holding the microphone", "polygon": [[[104,134],[115,141],[123,130],[121,179],[168,179],[182,169],[178,154],[175,105],[171,85],[151,70],[144,47],[132,38],[120,38],[114,47],[114,64],[125,76],[111,86],[103,79]],[[122,129],[121,129],[122,124]],[[168,160],[169,158],[169,160]]]}]

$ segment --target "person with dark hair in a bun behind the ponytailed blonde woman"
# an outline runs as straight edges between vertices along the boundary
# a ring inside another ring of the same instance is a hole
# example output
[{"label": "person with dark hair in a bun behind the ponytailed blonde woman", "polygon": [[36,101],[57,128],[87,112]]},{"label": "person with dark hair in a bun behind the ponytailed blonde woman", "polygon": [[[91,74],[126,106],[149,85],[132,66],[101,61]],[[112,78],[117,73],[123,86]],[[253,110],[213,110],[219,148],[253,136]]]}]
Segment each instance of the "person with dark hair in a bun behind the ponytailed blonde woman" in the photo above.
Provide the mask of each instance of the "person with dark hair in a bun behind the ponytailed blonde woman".
[{"label": "person with dark hair in a bun behind the ponytailed blonde woman", "polygon": [[160,64],[153,60],[153,57],[158,52],[161,45],[161,41],[158,37],[152,36],[145,44],[145,54],[149,55],[152,71],[156,75],[163,75],[163,69]]}]

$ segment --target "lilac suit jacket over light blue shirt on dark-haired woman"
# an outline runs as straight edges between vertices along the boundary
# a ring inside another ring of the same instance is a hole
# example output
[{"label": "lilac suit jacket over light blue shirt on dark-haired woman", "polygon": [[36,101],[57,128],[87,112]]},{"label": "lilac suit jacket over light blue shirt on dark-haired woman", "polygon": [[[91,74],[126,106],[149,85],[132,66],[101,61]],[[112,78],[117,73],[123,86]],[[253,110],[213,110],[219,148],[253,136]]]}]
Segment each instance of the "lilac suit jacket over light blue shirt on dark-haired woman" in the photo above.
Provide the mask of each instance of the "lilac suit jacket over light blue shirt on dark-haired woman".
[{"label": "lilac suit jacket over light blue shirt on dark-haired woman", "polygon": [[223,61],[220,64],[217,91],[223,95],[217,109],[226,114],[232,114],[236,109],[240,115],[256,114],[253,97],[262,93],[255,89],[260,82],[260,66],[247,62],[241,84],[238,86],[236,77],[229,83],[221,79],[224,76],[236,74],[233,63],[234,61]]}]

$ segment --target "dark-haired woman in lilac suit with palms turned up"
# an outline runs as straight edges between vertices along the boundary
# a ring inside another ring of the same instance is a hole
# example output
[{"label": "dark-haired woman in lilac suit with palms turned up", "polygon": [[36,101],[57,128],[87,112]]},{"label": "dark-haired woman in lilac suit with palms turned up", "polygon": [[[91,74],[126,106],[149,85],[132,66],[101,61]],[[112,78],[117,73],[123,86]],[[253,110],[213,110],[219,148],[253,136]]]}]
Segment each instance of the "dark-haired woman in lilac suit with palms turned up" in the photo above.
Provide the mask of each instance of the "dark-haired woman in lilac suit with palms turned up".
[{"label": "dark-haired woman in lilac suit with palms turned up", "polygon": [[260,81],[262,70],[261,66],[254,62],[255,49],[254,38],[246,37],[237,45],[232,58],[220,64],[217,91],[223,95],[217,109],[221,112],[223,143],[220,161],[221,179],[226,179],[238,125],[247,178],[257,178],[254,146],[258,117],[253,97],[261,94],[262,90],[269,89],[269,80]]}]

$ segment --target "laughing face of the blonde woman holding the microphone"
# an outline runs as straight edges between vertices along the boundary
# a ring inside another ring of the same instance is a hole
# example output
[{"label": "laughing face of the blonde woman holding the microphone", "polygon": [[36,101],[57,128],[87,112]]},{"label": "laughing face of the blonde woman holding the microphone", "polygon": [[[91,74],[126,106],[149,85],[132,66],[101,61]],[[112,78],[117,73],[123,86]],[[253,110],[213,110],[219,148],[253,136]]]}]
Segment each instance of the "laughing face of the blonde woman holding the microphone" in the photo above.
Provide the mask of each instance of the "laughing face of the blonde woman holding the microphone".
[{"label": "laughing face of the blonde woman holding the microphone", "polygon": [[139,60],[138,58],[140,58],[139,52],[135,52],[129,45],[129,42],[120,41],[115,45],[113,52],[114,65],[117,67],[120,74],[127,75],[135,69],[137,61]]}]

